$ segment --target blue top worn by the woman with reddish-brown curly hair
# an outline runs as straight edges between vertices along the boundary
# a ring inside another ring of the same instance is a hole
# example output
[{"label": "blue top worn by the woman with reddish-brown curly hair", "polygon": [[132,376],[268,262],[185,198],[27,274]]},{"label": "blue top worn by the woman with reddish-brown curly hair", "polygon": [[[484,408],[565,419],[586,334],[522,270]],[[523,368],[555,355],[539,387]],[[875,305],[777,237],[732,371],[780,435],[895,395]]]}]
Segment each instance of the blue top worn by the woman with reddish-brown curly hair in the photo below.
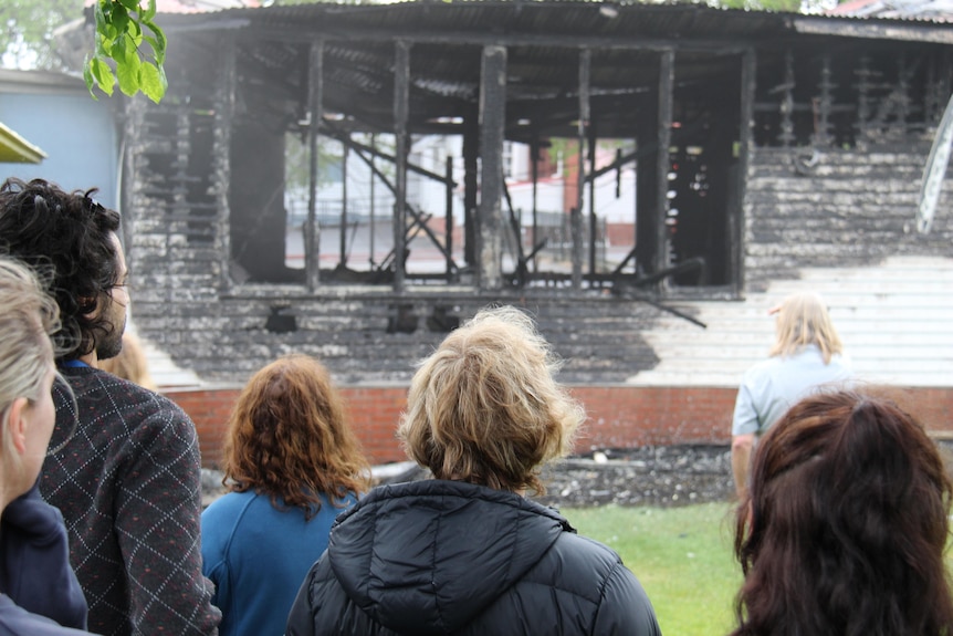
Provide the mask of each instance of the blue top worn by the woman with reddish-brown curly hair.
[{"label": "blue top worn by the woman with reddish-brown curly hair", "polygon": [[229,492],[202,512],[202,572],[216,584],[220,636],[284,634],[297,591],[327,548],[331,524],[357,499],[348,497],[345,508],[324,494],[321,501],[311,521],[300,508],[277,510],[269,496],[254,492]]}]

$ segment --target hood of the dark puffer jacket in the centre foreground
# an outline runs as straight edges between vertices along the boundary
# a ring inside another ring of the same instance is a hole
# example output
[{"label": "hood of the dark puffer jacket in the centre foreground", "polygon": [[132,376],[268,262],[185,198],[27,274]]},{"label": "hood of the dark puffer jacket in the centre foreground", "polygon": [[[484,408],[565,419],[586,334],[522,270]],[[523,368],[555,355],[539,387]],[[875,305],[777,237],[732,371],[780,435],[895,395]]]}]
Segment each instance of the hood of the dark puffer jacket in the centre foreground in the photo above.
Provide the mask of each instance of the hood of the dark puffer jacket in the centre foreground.
[{"label": "hood of the dark puffer jacket in the centre foreground", "polygon": [[343,513],[327,559],[348,597],[395,632],[465,626],[563,532],[556,511],[513,492],[428,480],[374,489]]}]

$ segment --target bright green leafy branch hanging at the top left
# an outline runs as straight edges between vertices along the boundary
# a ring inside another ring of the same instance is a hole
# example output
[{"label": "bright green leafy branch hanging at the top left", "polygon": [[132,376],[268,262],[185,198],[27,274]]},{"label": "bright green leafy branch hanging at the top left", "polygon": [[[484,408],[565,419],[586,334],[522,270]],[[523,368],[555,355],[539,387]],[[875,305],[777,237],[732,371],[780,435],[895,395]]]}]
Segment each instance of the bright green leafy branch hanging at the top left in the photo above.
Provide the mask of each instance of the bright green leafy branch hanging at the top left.
[{"label": "bright green leafy branch hanging at the top left", "polygon": [[[96,50],[83,65],[83,79],[94,100],[94,85],[112,95],[116,83],[126,95],[142,91],[156,103],[166,94],[166,34],[154,22],[156,0],[145,2],[143,9],[143,0],[96,1]],[[149,58],[145,44],[151,49]]]}]

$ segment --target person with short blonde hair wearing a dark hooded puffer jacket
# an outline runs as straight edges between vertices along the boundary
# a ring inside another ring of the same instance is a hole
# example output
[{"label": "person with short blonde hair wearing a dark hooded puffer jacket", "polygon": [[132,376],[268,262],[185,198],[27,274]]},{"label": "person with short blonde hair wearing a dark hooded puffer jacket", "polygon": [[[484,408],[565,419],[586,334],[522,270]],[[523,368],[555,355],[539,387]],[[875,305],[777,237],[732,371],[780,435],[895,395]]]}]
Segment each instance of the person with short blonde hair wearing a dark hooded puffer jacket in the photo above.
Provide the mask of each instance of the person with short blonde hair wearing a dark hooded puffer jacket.
[{"label": "person with short blonde hair wearing a dark hooded puffer jacket", "polygon": [[342,514],[292,607],[287,636],[654,636],[618,554],[578,536],[542,490],[584,419],[522,312],[481,312],[420,366],[398,429],[436,479],[384,486]]}]

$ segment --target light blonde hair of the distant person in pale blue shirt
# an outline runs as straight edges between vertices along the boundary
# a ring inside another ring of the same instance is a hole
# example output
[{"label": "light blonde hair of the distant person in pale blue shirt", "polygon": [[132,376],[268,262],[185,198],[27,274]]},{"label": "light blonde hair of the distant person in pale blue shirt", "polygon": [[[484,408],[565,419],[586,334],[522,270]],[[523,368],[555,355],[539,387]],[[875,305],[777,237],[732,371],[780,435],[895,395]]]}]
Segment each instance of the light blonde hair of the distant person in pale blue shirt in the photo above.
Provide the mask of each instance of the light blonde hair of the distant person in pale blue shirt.
[{"label": "light blonde hair of the distant person in pale blue shirt", "polygon": [[819,295],[813,292],[800,292],[784,299],[777,307],[777,340],[769,355],[794,355],[802,347],[815,344],[820,348],[824,364],[830,363],[830,357],[844,352],[844,345],[827,306]]}]

